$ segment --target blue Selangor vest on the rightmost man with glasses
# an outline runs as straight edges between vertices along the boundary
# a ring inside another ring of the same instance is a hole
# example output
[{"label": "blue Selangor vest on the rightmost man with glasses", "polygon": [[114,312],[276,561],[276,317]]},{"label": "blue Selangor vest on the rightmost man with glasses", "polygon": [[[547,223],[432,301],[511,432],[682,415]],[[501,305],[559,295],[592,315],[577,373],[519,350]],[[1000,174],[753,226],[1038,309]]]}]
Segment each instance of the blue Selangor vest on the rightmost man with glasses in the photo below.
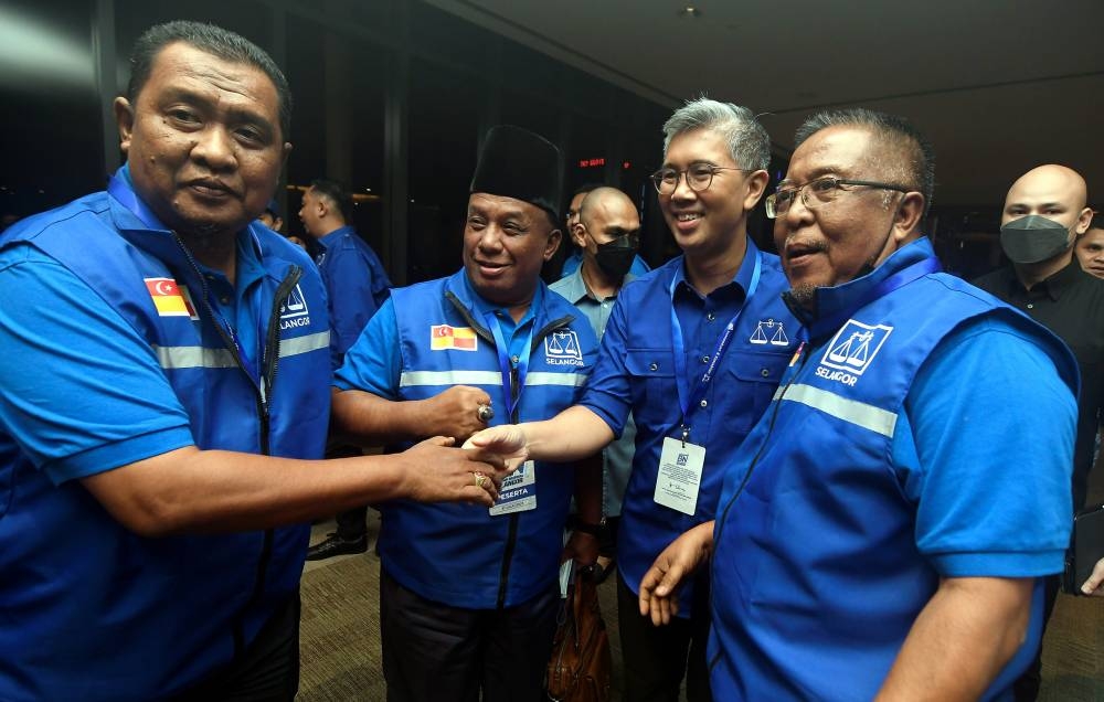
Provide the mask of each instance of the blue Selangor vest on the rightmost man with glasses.
[{"label": "blue Selangor vest on the rightmost man with glasses", "polygon": [[[884,265],[904,268],[901,262]],[[1071,366],[1041,327],[942,273],[861,306],[819,336],[813,326],[809,348],[725,476],[709,644],[718,700],[877,694],[940,581],[916,546],[916,506],[890,460],[894,425],[940,342],[994,315],[1022,327],[1058,369]],[[1075,387],[1075,376],[1064,380]],[[1038,636],[1032,617],[1028,644],[990,692],[1022,670]]]}]

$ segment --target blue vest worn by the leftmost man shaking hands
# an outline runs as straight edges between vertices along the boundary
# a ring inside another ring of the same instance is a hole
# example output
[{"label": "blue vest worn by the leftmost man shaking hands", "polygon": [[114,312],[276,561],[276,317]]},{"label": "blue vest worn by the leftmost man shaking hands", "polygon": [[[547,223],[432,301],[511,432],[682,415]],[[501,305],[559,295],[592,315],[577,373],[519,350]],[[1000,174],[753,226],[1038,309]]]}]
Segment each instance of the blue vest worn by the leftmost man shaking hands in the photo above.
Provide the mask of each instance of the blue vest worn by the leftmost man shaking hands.
[{"label": "blue vest worn by the leftmost man shaking hands", "polygon": [[[204,283],[173,236],[146,228],[105,193],[35,217],[0,245],[41,249],[134,326],[199,448],[320,458],[330,377],[321,281],[279,235],[257,224],[248,235],[266,270],[254,299],[265,310],[259,383],[214,328]],[[199,319],[159,316],[150,278],[187,287]],[[18,486],[0,519],[2,699],[178,693],[231,662],[298,587],[306,525],[144,539],[77,481],[55,487],[18,450],[0,458],[0,477]]]}]

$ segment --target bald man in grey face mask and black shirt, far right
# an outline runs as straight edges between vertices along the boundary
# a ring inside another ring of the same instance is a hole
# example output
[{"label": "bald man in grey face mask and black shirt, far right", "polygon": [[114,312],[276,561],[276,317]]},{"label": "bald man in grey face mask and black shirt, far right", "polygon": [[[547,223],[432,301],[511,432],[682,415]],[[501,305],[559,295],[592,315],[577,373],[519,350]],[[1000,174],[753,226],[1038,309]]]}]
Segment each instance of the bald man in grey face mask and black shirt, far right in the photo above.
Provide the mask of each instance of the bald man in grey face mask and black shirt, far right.
[{"label": "bald man in grey face mask and black shirt, far right", "polygon": [[[1070,168],[1040,166],[1021,176],[1008,190],[1000,216],[1000,247],[1011,263],[974,281],[1050,329],[1078,359],[1081,394],[1071,518],[1085,503],[1104,403],[1104,280],[1085,273],[1074,256],[1093,216],[1086,202],[1085,179]],[[1058,588],[1054,576],[1048,581],[1048,616]],[[1037,656],[1016,683],[1017,701],[1036,699],[1040,668]]]}]

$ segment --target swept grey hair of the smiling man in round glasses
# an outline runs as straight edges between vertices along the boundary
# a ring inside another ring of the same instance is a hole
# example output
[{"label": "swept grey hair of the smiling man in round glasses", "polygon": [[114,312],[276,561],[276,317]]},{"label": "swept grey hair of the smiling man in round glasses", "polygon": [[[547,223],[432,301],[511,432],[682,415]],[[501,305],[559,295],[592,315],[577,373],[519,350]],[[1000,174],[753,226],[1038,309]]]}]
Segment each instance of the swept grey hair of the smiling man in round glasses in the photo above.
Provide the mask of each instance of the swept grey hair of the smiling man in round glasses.
[{"label": "swept grey hair of the smiling man in round glasses", "polygon": [[746,107],[708,97],[687,100],[664,124],[664,155],[671,139],[694,129],[710,129],[724,137],[732,160],[741,168],[765,170],[771,166],[771,136]]}]

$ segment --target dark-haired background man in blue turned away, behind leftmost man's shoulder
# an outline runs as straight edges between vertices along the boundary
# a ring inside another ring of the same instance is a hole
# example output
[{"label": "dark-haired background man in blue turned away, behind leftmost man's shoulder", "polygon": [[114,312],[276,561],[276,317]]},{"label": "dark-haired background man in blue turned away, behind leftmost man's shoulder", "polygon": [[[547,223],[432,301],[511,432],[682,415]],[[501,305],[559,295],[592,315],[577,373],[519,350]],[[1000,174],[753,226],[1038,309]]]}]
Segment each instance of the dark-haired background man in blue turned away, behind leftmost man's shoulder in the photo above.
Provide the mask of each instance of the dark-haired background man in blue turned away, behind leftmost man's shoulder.
[{"label": "dark-haired background man in blue turned away, behind leftmost man's shoulder", "polygon": [[[380,257],[352,226],[352,195],[337,181],[315,180],[302,193],[299,220],[315,240],[315,263],[322,274],[329,296],[330,362],[341,368],[346,351],[388,299],[391,280]],[[327,458],[357,456],[355,447],[331,447]],[[337,515],[337,531],[307,551],[308,561],[344,553],[368,551],[368,508],[346,510]]]}]

